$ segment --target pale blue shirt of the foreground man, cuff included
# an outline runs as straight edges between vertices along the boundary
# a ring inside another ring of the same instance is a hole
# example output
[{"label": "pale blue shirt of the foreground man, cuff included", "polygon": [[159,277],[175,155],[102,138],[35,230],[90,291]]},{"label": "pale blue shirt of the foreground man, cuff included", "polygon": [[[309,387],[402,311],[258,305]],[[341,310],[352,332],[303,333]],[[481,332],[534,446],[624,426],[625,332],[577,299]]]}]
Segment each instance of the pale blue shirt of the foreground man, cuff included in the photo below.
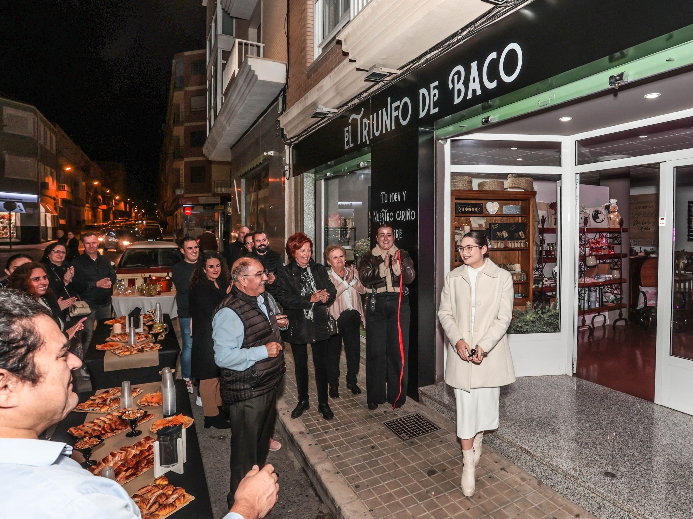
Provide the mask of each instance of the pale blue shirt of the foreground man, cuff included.
[{"label": "pale blue shirt of the foreground man, cuff included", "polygon": [[86,471],[71,454],[58,441],[0,438],[0,518],[141,519],[119,483]]}]

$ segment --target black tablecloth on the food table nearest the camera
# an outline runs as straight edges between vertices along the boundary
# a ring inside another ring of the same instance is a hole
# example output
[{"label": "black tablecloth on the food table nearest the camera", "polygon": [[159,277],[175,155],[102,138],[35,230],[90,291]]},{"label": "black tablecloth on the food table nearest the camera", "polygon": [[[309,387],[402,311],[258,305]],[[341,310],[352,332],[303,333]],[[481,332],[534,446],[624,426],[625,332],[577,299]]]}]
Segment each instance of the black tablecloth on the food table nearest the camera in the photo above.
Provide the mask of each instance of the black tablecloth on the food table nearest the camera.
[{"label": "black tablecloth on the food table nearest the camera", "polygon": [[[152,368],[154,369],[154,368]],[[152,381],[150,381],[152,382]],[[193,410],[190,406],[188,391],[185,387],[185,382],[182,380],[175,381],[176,392],[176,412],[184,415],[193,416]],[[78,393],[80,403],[87,401],[92,392]],[[74,446],[77,439],[73,437],[67,430],[71,427],[76,427],[84,424],[87,415],[83,412],[71,412],[63,421],[55,428],[55,432],[51,437],[51,441],[62,441],[66,444]],[[148,432],[148,431],[146,431]],[[133,439],[137,441],[138,439]],[[212,505],[209,500],[209,490],[207,489],[207,478],[204,476],[204,466],[202,465],[202,454],[200,453],[200,443],[198,441],[198,433],[195,431],[195,426],[186,429],[187,440],[187,461],[184,465],[184,473],[177,474],[173,471],[167,472],[170,484],[182,486],[185,491],[195,496],[190,504],[180,509],[175,513],[175,519],[212,519]],[[152,477],[154,475],[152,469]]]}]

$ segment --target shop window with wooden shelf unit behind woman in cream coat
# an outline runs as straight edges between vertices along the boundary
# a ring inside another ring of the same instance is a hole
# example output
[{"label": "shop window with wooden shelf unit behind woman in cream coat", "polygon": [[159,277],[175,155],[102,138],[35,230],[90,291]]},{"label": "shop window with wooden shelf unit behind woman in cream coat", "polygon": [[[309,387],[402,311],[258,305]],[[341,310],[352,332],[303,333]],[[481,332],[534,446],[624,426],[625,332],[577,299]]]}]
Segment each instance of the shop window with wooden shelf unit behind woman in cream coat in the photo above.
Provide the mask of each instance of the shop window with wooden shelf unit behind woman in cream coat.
[{"label": "shop window with wooden shelf unit behind woman in cream coat", "polygon": [[462,173],[453,174],[450,188],[455,227],[450,269],[464,264],[459,251],[464,234],[482,231],[491,261],[513,277],[514,320],[508,333],[561,331],[561,221],[556,216],[561,176]]}]

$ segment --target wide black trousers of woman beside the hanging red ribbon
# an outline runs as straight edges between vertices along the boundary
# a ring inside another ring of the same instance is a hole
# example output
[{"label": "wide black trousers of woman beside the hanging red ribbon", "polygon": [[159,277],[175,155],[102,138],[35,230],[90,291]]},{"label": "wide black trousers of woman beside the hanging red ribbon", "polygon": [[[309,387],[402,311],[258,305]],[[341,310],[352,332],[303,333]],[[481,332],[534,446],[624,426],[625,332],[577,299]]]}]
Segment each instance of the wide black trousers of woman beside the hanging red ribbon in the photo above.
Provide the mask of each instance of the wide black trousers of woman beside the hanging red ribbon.
[{"label": "wide black trousers of woman beside the hanging red ribbon", "polygon": [[[372,296],[371,296],[372,297]],[[407,399],[407,370],[409,368],[409,298],[402,296],[400,324],[404,344],[404,374],[400,392],[399,376],[402,356],[399,350],[397,306],[399,294],[376,295],[376,308],[366,309],[366,391],[369,403],[385,401],[401,406]],[[400,395],[397,398],[397,395]],[[396,402],[395,402],[396,401]]]}]

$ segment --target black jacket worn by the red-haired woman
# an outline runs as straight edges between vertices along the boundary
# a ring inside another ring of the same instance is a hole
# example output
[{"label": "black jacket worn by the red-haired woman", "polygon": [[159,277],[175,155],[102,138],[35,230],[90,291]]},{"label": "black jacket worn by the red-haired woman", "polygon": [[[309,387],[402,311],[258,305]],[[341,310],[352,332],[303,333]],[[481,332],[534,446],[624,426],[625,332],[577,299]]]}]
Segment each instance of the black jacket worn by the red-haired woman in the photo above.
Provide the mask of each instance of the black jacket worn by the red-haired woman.
[{"label": "black jacket worn by the red-haired woman", "polygon": [[[327,327],[327,307],[337,297],[335,284],[331,282],[327,269],[319,263],[308,264],[313,273],[315,287],[318,290],[327,289],[330,298],[326,303],[310,302],[310,294],[301,295],[301,266],[293,261],[277,273],[274,282],[274,297],[281,304],[289,319],[289,327],[281,333],[283,340],[292,344],[315,343],[317,340],[330,338]],[[313,308],[313,320],[304,316],[304,310]]]}]

